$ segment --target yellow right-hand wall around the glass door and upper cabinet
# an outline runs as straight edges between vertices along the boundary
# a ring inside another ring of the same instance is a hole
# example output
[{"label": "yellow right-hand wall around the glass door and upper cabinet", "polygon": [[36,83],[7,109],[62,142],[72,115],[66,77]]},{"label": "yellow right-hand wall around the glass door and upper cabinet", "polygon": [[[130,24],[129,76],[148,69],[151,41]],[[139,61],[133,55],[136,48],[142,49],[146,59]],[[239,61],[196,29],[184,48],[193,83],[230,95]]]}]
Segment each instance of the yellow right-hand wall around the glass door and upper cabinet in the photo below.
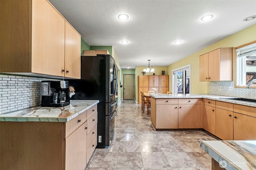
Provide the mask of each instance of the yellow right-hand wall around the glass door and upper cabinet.
[{"label": "yellow right-hand wall around the glass door and upper cabinet", "polygon": [[[218,41],[174,64],[168,66],[169,90],[172,91],[172,70],[191,64],[191,93],[209,94],[209,83],[199,81],[199,56],[219,47],[238,47],[256,40],[256,24]],[[234,67],[234,66],[233,66]],[[234,70],[234,69],[233,69]],[[234,80],[234,79],[233,79]]]}]

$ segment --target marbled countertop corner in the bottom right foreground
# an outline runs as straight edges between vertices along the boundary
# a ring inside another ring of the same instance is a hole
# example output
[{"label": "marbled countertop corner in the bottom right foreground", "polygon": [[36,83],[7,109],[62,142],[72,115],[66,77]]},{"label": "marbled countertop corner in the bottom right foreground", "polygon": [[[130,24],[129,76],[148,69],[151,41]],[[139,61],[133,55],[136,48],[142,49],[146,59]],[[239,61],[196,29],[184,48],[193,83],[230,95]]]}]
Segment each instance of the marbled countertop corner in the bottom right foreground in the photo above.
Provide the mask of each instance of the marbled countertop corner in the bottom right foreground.
[{"label": "marbled countertop corner in the bottom right foreground", "polygon": [[200,141],[200,147],[227,170],[256,169],[256,141]]}]

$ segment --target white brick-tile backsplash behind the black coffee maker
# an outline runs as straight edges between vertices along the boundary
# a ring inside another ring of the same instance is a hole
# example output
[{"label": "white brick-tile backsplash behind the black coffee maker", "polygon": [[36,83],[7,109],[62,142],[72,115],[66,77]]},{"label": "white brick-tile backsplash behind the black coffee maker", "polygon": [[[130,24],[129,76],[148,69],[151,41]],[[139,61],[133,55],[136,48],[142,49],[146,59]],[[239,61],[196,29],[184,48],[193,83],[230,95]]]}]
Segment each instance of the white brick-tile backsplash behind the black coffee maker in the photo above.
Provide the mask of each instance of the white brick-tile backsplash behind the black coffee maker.
[{"label": "white brick-tile backsplash behind the black coffee maker", "polygon": [[56,79],[0,74],[0,114],[38,106],[42,80]]}]

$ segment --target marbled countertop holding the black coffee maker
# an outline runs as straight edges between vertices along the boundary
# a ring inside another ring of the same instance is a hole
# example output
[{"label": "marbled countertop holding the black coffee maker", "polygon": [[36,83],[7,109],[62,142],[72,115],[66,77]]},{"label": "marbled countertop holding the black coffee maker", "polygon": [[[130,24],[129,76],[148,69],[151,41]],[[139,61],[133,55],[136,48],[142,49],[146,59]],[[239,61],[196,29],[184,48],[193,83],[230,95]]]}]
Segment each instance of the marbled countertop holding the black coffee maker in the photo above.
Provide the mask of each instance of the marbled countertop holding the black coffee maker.
[{"label": "marbled countertop holding the black coffee maker", "polygon": [[68,122],[98,103],[99,100],[72,100],[64,107],[36,106],[0,114],[0,121]]}]

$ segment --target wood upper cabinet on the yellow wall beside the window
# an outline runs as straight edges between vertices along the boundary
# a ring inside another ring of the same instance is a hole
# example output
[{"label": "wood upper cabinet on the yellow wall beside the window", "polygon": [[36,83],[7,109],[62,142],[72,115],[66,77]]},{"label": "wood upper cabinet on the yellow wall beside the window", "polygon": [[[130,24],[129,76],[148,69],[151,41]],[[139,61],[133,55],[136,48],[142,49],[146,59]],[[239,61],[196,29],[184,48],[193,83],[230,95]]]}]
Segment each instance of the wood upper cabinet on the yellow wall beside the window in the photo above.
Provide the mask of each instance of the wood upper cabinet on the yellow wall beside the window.
[{"label": "wood upper cabinet on the yellow wall beside the window", "polygon": [[233,47],[220,47],[201,55],[200,81],[233,79]]}]

